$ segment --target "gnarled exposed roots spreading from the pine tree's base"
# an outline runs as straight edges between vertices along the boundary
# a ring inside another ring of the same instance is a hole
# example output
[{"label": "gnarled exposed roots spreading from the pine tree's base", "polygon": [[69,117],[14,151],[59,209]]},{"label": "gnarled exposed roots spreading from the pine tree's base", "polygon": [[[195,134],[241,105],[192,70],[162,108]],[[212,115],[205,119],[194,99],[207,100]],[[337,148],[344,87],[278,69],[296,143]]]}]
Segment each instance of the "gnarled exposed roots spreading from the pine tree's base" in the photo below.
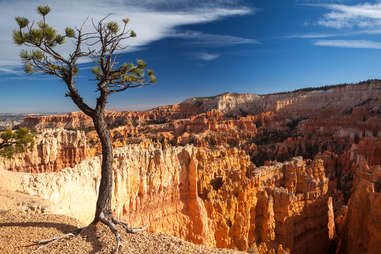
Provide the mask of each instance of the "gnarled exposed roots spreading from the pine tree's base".
[{"label": "gnarled exposed roots spreading from the pine tree's base", "polygon": [[[122,226],[123,229],[125,229],[126,232],[130,233],[130,234],[135,234],[135,233],[141,232],[141,231],[146,229],[146,225],[143,226],[143,227],[140,227],[140,228],[130,228],[124,222],[118,221],[118,220],[116,220],[116,219],[114,219],[112,217],[110,219],[106,218],[103,213],[100,214],[99,220],[103,224],[108,226],[110,228],[110,230],[113,232],[113,234],[115,235],[115,238],[116,238],[116,248],[115,248],[115,250],[113,252],[114,254],[117,254],[119,252],[121,241],[122,241],[122,238],[121,238],[121,236],[120,236],[120,234],[118,232],[118,229],[116,228],[116,225]],[[51,244],[53,244],[55,242],[58,242],[60,240],[63,240],[63,239],[69,239],[69,240],[71,240],[71,239],[81,235],[83,232],[85,232],[89,228],[90,225],[88,225],[86,227],[83,227],[83,228],[79,228],[79,229],[75,230],[72,233],[67,233],[67,234],[64,234],[64,235],[56,236],[56,237],[53,237],[53,238],[50,238],[50,239],[44,239],[44,240],[35,241],[34,242],[35,244],[39,244],[41,246],[39,246],[37,249],[32,251],[30,254],[37,253],[39,250],[41,250],[41,249],[43,249],[45,247],[48,247],[49,245],[51,245]]]}]

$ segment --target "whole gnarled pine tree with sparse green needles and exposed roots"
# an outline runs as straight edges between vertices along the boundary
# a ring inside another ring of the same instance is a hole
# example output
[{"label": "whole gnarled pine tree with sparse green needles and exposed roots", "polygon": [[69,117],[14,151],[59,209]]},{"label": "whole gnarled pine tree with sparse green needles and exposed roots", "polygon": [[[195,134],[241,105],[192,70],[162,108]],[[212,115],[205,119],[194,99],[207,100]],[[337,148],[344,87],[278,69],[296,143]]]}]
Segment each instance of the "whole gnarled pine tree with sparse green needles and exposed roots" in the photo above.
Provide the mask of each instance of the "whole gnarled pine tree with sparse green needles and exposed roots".
[{"label": "whole gnarled pine tree with sparse green needles and exposed roots", "polygon": [[[112,196],[112,161],[113,150],[110,132],[105,121],[105,107],[109,95],[123,92],[129,88],[137,88],[156,82],[155,74],[147,69],[143,60],[136,63],[118,64],[116,52],[124,49],[121,42],[133,38],[136,33],[127,29],[129,19],[122,20],[122,26],[114,21],[107,21],[107,15],[98,22],[92,21],[93,32],[84,32],[80,28],[66,27],[64,33],[58,31],[47,23],[49,6],[38,6],[41,20],[30,24],[24,17],[16,17],[18,29],[13,31],[13,40],[18,45],[27,46],[28,50],[22,50],[20,57],[24,62],[24,70],[27,73],[41,72],[53,75],[64,81],[68,92],[66,96],[86,115],[91,117],[95,130],[102,144],[102,171],[99,186],[99,195],[96,204],[94,220],[91,224],[102,222],[115,234],[117,246],[115,253],[120,247],[120,234],[116,224],[121,225],[127,232],[133,233],[143,228],[133,229],[127,224],[113,218],[111,210]],[[59,47],[67,41],[74,42],[73,51],[66,57],[59,53]],[[84,49],[86,48],[86,49]],[[98,97],[95,107],[89,106],[76,88],[75,77],[78,75],[79,59],[91,58],[97,66],[92,69],[95,76],[95,87]],[[90,225],[91,225],[90,224]],[[53,239],[38,241],[41,247],[68,236],[77,236],[83,233],[87,227],[81,228],[74,233]]]}]

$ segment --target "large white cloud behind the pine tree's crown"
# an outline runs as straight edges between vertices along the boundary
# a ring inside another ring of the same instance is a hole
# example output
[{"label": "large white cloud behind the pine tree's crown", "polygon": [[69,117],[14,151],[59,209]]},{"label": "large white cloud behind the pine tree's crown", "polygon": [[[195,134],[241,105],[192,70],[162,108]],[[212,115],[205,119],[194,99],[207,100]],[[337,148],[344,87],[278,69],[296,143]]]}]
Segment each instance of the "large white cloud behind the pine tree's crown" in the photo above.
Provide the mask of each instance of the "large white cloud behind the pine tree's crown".
[{"label": "large white cloud behind the pine tree's crown", "polygon": [[[238,3],[239,0],[0,1],[0,9],[3,13],[0,15],[0,34],[3,35],[0,39],[0,66],[21,64],[18,57],[20,47],[13,44],[11,38],[12,30],[17,27],[14,17],[25,16],[30,20],[37,20],[39,17],[35,9],[39,4],[51,6],[51,14],[47,17],[48,23],[61,32],[66,26],[80,26],[86,17],[99,20],[108,13],[112,13],[111,19],[116,21],[129,17],[131,20],[129,27],[135,30],[138,36],[127,42],[128,50],[137,50],[152,41],[173,35],[178,26],[212,22],[256,11]],[[89,24],[86,29],[90,28]],[[231,37],[230,40],[231,43],[237,44],[240,39]],[[67,44],[70,45],[70,43]],[[68,52],[65,48],[63,51]]]}]

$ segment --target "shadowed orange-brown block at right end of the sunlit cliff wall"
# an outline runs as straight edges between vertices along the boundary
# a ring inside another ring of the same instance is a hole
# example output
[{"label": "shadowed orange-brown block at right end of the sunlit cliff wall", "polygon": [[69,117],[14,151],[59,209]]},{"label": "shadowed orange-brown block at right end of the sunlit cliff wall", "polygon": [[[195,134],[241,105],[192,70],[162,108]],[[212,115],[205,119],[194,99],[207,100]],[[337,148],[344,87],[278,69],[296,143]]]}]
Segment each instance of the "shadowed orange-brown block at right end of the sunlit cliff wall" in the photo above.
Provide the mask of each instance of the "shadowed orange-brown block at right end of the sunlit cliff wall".
[{"label": "shadowed orange-brown block at right end of the sunlit cliff wall", "polygon": [[335,228],[323,161],[294,158],[260,167],[254,178],[262,187],[254,224],[259,248],[281,244],[291,253],[328,253]]}]

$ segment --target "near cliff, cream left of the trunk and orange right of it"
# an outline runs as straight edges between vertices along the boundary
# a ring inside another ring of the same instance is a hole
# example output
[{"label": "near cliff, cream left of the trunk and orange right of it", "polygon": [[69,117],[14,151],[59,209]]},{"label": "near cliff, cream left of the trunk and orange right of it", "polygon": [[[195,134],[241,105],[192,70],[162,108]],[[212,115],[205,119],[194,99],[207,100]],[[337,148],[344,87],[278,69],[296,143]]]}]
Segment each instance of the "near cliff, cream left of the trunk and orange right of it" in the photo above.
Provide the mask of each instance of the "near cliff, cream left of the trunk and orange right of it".
[{"label": "near cliff, cream left of the trunk and orange right of it", "polygon": [[[99,157],[55,173],[0,172],[2,189],[43,198],[51,202],[47,211],[91,221]],[[313,240],[318,245],[309,253],[325,252],[334,231],[330,202],[321,160],[257,168],[235,148],[163,150],[152,144],[114,155],[115,216],[202,245],[306,253]]]}]

